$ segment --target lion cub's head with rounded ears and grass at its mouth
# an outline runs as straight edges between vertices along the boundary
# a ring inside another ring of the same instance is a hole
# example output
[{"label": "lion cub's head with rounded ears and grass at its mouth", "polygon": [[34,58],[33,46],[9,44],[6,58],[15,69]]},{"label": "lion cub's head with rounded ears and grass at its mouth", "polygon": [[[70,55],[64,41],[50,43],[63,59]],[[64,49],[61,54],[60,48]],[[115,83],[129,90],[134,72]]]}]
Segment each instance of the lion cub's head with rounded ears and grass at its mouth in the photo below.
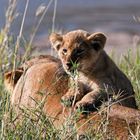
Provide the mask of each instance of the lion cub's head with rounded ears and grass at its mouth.
[{"label": "lion cub's head with rounded ears and grass at its mouth", "polygon": [[73,72],[75,68],[84,72],[98,60],[106,37],[100,32],[90,34],[83,30],[75,30],[64,35],[52,33],[50,42],[68,73]]}]

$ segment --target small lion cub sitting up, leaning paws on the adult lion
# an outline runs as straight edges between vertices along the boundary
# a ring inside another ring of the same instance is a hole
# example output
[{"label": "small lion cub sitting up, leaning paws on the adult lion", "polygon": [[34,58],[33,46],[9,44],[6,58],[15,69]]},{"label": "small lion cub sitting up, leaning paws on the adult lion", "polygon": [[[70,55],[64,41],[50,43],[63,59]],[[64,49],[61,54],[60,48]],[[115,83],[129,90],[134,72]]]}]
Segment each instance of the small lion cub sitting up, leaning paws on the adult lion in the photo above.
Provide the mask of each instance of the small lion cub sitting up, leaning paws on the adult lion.
[{"label": "small lion cub sitting up, leaning paws on the adult lion", "polygon": [[76,75],[78,81],[78,90],[70,86],[62,101],[75,100],[76,107],[88,110],[107,100],[137,108],[130,81],[104,51],[106,36],[103,33],[90,34],[83,30],[64,35],[52,33],[50,42],[65,71]]}]

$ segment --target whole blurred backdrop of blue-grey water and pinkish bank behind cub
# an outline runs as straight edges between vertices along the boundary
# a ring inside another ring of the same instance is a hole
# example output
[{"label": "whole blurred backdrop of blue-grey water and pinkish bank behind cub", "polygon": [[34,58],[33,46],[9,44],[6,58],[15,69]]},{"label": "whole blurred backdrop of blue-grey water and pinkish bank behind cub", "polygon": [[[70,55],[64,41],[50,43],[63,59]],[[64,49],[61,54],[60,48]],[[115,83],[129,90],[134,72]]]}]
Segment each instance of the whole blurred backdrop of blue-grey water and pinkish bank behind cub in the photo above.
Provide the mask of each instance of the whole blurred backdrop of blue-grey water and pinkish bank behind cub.
[{"label": "whole blurred backdrop of blue-grey water and pinkish bank behind cub", "polygon": [[[50,0],[29,1],[23,27],[23,35],[27,40],[42,15],[41,11],[49,2]],[[18,14],[10,31],[14,36],[19,34],[25,5],[26,0],[17,1]],[[5,24],[7,7],[8,0],[0,0],[0,28]],[[34,54],[50,53],[48,34],[52,31],[54,7],[54,25],[57,31],[84,29],[90,33],[104,32],[108,37],[106,50],[117,56],[124,54],[128,49],[138,47],[140,0],[52,0],[36,32],[33,41]]]}]

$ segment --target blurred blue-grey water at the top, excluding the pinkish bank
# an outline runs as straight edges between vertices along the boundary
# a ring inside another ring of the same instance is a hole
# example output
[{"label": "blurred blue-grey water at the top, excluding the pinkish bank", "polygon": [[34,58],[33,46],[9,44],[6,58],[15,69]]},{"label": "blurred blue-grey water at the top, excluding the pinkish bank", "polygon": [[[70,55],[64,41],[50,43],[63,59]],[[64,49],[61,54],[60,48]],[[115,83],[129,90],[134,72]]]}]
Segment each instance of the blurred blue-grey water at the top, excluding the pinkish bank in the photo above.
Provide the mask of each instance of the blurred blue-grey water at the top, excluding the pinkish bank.
[{"label": "blurred blue-grey water at the top, excluding the pinkish bank", "polygon": [[[30,0],[24,25],[24,35],[28,38],[39,17],[35,16],[36,9],[42,3],[47,5],[49,0]],[[13,23],[11,32],[18,34],[25,7],[25,0],[18,0],[19,16]],[[140,16],[140,0],[57,0],[55,27],[58,30],[85,29],[87,31],[102,31],[107,34],[117,33],[127,35],[140,34],[140,22],[134,16]],[[8,0],[0,0],[0,28],[4,25],[4,13]],[[36,38],[51,31],[54,3],[49,8]],[[109,34],[109,36],[111,36]],[[130,36],[131,38],[131,36]],[[127,42],[127,40],[126,40]],[[128,43],[128,42],[127,42]]]}]

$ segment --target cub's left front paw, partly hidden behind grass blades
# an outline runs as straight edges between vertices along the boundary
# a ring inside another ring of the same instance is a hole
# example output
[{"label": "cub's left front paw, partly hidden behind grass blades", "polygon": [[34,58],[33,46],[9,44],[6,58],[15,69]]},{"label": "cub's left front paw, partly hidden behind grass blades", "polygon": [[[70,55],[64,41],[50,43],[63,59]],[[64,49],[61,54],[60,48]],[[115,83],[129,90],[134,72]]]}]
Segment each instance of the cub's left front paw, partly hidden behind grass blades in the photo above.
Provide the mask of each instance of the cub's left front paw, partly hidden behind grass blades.
[{"label": "cub's left front paw, partly hidden behind grass blades", "polygon": [[74,101],[74,95],[64,95],[61,98],[61,103],[65,106],[65,107],[71,107]]}]

